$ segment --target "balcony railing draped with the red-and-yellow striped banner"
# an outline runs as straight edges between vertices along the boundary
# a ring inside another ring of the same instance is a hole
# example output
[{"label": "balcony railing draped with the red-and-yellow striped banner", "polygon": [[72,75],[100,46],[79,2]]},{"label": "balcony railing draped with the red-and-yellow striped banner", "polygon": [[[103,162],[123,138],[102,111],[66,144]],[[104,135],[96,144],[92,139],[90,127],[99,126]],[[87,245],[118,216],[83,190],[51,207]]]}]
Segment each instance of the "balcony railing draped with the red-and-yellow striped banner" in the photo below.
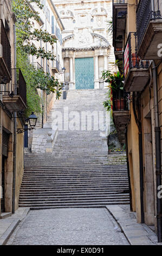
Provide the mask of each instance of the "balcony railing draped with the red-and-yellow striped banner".
[{"label": "balcony railing draped with the red-and-yellow striped banner", "polygon": [[126,42],[124,54],[124,75],[127,76],[129,70],[133,68],[147,69],[148,60],[141,60],[137,55],[137,32],[130,32]]}]

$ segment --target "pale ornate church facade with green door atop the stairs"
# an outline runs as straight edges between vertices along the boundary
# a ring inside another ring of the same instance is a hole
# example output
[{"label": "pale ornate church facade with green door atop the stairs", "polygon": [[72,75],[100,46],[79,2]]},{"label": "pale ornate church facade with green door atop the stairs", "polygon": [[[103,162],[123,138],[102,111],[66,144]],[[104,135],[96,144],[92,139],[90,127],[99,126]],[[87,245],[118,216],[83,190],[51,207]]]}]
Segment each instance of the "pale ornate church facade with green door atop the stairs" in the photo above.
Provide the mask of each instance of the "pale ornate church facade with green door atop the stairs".
[{"label": "pale ornate church facade with green door atop the stairs", "polygon": [[112,1],[54,1],[65,27],[62,32],[64,82],[69,89],[101,89],[101,72],[113,69]]}]

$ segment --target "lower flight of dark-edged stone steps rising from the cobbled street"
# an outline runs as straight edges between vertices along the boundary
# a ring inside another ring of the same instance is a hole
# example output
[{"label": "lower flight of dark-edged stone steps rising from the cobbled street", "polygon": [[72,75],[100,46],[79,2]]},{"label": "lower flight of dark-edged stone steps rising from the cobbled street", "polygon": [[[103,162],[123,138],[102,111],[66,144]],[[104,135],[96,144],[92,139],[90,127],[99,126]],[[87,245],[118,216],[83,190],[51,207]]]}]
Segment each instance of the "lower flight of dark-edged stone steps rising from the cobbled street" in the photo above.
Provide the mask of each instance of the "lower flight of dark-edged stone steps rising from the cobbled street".
[{"label": "lower flight of dark-edged stone steps rising from the cobbled street", "polygon": [[26,167],[20,206],[31,210],[128,204],[126,166]]}]

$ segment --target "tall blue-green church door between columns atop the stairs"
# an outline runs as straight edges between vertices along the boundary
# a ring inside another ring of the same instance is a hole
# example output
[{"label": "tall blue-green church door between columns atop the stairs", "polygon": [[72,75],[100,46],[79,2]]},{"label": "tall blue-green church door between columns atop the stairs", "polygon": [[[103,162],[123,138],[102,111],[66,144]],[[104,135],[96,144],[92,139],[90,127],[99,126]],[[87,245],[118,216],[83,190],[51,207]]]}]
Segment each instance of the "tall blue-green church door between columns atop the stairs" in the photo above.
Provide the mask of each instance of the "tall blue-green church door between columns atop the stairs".
[{"label": "tall blue-green church door between columns atop the stairs", "polygon": [[75,59],[75,89],[94,89],[93,58]]}]

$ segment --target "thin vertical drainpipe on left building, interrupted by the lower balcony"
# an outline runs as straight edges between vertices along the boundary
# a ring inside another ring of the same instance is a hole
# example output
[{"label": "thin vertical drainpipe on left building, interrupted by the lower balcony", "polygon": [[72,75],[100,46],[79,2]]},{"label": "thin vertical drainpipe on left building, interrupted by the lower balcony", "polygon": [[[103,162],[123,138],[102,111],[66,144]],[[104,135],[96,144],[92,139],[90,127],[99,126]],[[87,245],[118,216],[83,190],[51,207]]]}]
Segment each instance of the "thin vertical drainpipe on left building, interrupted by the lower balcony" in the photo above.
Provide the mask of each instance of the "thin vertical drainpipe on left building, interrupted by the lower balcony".
[{"label": "thin vertical drainpipe on left building, interrupted by the lower balcony", "polygon": [[[17,95],[17,87],[16,87],[16,25],[14,23],[14,94]],[[12,184],[12,214],[15,214],[15,184],[16,184],[16,129],[17,129],[17,121],[16,121],[17,113],[14,112],[14,152],[13,152],[13,184]]]}]

